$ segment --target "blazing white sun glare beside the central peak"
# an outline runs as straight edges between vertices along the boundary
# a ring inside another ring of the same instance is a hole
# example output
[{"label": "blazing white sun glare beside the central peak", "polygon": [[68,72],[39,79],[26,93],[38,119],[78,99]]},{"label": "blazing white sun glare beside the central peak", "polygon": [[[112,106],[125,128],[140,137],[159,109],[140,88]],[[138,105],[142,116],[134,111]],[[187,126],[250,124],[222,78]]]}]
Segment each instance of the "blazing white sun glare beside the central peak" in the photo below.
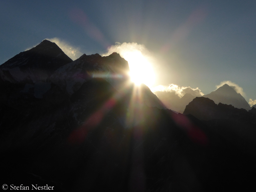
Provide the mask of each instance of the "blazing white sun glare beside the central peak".
[{"label": "blazing white sun glare beside the central peak", "polygon": [[130,67],[130,78],[136,85],[146,84],[151,87],[155,81],[152,64],[140,51],[128,51],[123,53],[123,58],[128,61]]}]

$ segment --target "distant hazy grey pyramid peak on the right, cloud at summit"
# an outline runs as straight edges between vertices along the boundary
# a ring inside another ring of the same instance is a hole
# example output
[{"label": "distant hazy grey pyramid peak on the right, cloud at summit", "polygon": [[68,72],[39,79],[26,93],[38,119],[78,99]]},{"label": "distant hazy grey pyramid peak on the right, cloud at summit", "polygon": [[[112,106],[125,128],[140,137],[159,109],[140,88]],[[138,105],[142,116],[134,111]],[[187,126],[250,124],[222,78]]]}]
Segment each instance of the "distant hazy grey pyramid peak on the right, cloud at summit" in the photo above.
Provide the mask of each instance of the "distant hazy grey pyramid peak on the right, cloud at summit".
[{"label": "distant hazy grey pyramid peak on the right, cloud at summit", "polygon": [[216,104],[228,104],[234,106],[235,108],[250,110],[250,105],[248,102],[246,102],[244,97],[240,93],[237,93],[228,84],[224,84],[217,90],[211,92],[210,94],[204,95],[203,97],[213,100]]}]

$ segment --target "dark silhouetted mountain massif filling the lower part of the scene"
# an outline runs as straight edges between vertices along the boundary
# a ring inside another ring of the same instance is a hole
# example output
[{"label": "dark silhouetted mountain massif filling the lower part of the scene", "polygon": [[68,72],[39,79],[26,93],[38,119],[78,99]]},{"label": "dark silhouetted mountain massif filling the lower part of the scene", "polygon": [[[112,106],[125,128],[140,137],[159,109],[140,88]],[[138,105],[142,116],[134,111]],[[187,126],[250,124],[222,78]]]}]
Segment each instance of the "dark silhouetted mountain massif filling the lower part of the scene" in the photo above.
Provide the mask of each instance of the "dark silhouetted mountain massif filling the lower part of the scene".
[{"label": "dark silhouetted mountain massif filling the lower part of the scene", "polygon": [[[0,66],[2,183],[65,192],[256,189],[255,110],[237,122],[176,114],[129,81],[116,53],[72,61],[51,42],[35,48]],[[14,75],[14,65],[24,68]],[[206,111],[222,107],[233,118],[235,108],[209,103]]]}]

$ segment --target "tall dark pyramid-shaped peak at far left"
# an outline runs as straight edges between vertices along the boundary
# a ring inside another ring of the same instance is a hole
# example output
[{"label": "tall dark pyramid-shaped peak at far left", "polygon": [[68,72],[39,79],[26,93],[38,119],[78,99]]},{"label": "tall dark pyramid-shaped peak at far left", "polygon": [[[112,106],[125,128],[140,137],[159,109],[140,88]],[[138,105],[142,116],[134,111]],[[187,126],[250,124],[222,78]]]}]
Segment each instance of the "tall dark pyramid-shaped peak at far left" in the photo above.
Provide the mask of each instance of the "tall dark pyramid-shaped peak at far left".
[{"label": "tall dark pyramid-shaped peak at far left", "polygon": [[55,43],[42,41],[0,65],[0,78],[8,82],[46,81],[61,66],[72,62]]}]

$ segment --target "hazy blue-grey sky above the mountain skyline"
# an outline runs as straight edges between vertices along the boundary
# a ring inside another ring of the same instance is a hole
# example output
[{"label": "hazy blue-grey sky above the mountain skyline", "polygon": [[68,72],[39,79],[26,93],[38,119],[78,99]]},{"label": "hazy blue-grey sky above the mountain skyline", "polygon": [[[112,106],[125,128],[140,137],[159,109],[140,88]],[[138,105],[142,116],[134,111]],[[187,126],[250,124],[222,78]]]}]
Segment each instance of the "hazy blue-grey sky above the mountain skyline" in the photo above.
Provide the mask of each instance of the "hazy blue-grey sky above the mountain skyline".
[{"label": "hazy blue-grey sky above the mountain skyline", "polygon": [[[136,43],[153,58],[155,82],[199,89],[228,81],[256,100],[256,1],[0,1],[0,64],[55,40],[73,60]],[[256,102],[256,101],[255,101]]]}]

